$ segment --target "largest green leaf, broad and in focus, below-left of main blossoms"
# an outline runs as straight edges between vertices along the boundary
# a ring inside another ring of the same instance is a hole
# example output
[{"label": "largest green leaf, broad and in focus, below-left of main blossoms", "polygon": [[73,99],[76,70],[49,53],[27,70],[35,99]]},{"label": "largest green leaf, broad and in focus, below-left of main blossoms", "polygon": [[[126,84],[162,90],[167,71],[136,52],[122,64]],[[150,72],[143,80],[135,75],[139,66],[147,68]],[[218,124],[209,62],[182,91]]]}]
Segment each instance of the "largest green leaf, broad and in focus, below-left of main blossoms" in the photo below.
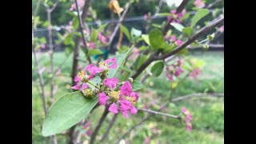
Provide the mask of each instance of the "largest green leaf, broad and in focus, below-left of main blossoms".
[{"label": "largest green leaf, broad and in focus, below-left of main blossoms", "polygon": [[98,103],[98,97],[86,98],[81,91],[65,94],[58,98],[42,124],[42,135],[50,136],[69,129],[90,113]]}]

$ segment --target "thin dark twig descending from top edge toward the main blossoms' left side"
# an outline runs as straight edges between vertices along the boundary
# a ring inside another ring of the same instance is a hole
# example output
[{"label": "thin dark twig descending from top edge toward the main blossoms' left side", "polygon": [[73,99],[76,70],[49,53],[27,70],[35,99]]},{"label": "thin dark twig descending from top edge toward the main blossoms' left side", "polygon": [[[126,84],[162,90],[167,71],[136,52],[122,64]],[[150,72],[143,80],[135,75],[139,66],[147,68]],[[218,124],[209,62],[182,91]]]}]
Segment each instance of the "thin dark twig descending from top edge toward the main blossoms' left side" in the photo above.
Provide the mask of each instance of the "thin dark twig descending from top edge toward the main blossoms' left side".
[{"label": "thin dark twig descending from top edge toward the main blossoms' left side", "polygon": [[83,34],[83,28],[84,28],[84,26],[83,26],[82,18],[81,18],[79,9],[78,9],[78,0],[75,0],[74,2],[75,2],[75,6],[76,6],[76,9],[77,9],[77,12],[78,12],[79,30],[80,30],[80,33],[82,34],[82,42],[83,42],[83,45],[85,46],[86,58],[87,58],[87,60],[89,61],[89,63],[91,63],[90,56],[88,55],[88,49],[87,49],[87,44],[86,44],[86,38],[85,38],[85,35]]}]

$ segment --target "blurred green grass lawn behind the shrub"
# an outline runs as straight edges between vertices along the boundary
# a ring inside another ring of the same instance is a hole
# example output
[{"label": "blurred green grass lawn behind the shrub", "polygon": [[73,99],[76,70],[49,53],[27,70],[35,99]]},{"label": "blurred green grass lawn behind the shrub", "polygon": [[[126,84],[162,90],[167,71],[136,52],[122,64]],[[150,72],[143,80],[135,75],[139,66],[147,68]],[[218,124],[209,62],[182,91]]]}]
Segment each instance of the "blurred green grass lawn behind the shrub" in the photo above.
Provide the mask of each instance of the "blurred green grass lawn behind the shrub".
[{"label": "blurred green grass lawn behind the shrub", "polygon": [[[192,55],[196,58],[204,60],[205,66],[203,67],[202,75],[196,79],[186,78],[178,84],[173,90],[173,98],[183,96],[186,94],[195,93],[223,93],[224,91],[224,54],[223,52],[195,52]],[[66,60],[66,62],[65,62]],[[62,96],[70,92],[70,71],[72,66],[72,55],[67,58],[63,53],[54,54],[55,67],[58,67],[65,62],[62,66],[62,74],[54,78],[55,86],[58,86],[54,98]],[[49,66],[49,57],[45,57],[41,62],[42,66]],[[82,65],[80,63],[79,65]],[[84,65],[82,65],[84,66]],[[34,67],[34,66],[32,66]],[[44,74],[44,78],[49,79],[49,75]],[[34,73],[33,87],[32,87],[32,140],[33,143],[45,143],[46,138],[42,137],[42,122],[44,113],[42,110],[42,101],[38,93],[38,78]],[[144,90],[141,90],[139,103],[143,106],[145,103],[154,103],[150,109],[156,110],[170,95],[170,82],[168,82],[162,74],[158,78],[149,78]],[[151,83],[151,84],[150,84]],[[153,85],[152,85],[153,83]],[[47,101],[50,103],[49,98],[49,85],[46,85]],[[154,102],[155,101],[155,102]],[[142,126],[138,126],[126,136],[126,141],[131,143],[143,143],[145,138],[150,138],[150,143],[224,143],[224,99],[223,98],[192,98],[183,102],[170,104],[162,112],[168,114],[178,115],[182,107],[193,114],[191,121],[193,130],[186,131],[186,126],[173,118],[163,118],[162,116],[154,115]],[[95,110],[89,116],[89,121],[95,128],[98,119],[102,113],[102,106]],[[134,116],[126,119],[122,114],[118,115],[117,122],[114,124],[110,131],[110,136],[106,138],[104,143],[113,143],[114,140],[122,133],[124,133],[130,126],[134,126],[146,114],[138,112]],[[109,114],[106,121],[103,123],[98,137],[104,134],[108,123],[110,122],[113,114]],[[58,134],[58,143],[66,143],[66,137],[63,134]],[[82,137],[88,139],[88,137]]]}]

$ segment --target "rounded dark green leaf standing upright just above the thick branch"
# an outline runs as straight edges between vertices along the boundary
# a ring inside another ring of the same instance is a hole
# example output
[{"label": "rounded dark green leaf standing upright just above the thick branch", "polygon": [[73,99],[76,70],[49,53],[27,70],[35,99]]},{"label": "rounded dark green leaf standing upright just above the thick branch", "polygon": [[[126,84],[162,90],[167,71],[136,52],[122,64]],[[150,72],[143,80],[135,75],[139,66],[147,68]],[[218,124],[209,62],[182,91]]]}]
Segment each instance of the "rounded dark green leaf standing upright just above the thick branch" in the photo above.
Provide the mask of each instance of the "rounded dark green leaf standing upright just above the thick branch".
[{"label": "rounded dark green leaf standing upright just above the thick branch", "polygon": [[155,50],[162,48],[162,45],[165,42],[165,39],[162,36],[162,32],[158,29],[153,29],[150,31],[149,39],[151,47]]}]

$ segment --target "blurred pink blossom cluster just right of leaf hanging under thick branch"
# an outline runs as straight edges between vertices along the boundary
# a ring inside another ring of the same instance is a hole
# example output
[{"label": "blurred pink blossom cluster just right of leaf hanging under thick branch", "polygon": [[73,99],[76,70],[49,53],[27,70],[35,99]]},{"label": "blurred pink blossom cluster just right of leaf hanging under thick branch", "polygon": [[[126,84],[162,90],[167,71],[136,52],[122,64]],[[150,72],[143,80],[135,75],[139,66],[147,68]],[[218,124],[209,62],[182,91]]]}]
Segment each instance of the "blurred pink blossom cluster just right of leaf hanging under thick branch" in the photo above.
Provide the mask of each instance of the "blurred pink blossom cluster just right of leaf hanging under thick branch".
[{"label": "blurred pink blossom cluster just right of leaf hanging under thick branch", "polygon": [[170,80],[170,82],[174,81],[174,76],[178,77],[184,71],[182,70],[182,60],[179,58],[176,64],[171,65],[171,69],[169,66],[166,66],[166,77]]}]

